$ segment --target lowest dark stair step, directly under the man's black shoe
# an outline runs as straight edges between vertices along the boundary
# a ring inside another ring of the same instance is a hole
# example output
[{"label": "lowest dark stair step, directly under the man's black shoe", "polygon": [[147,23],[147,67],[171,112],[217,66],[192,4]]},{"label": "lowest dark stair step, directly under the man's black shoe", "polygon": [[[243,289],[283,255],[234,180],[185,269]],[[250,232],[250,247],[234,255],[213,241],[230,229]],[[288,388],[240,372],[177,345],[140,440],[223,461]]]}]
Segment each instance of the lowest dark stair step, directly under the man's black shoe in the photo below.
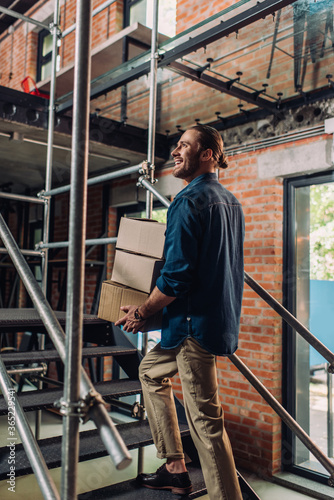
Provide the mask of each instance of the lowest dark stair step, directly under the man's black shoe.
[{"label": "lowest dark stair step, directly under the man's black shoe", "polygon": [[[198,498],[206,494],[206,488],[203,480],[202,471],[199,467],[193,464],[187,464],[187,469],[193,485],[193,492],[190,495],[182,496],[183,499]],[[106,488],[83,493],[78,496],[78,500],[108,500],[119,498],[120,500],[171,500],[176,497],[167,490],[152,490],[143,488],[136,483],[136,480],[124,481],[122,483],[113,484]]]}]

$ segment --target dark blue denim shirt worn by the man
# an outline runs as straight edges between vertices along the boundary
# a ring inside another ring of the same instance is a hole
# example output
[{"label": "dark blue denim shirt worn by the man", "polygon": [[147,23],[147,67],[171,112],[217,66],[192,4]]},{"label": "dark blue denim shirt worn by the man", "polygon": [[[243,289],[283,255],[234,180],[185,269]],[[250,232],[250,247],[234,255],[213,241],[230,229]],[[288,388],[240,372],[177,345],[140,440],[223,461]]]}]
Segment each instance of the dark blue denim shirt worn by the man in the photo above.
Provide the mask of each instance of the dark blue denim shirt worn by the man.
[{"label": "dark blue denim shirt worn by the man", "polygon": [[168,209],[166,263],[157,280],[162,293],[176,297],[163,310],[162,348],[191,336],[216,355],[237,349],[243,240],[241,205],[216,174],[196,177],[177,194]]}]

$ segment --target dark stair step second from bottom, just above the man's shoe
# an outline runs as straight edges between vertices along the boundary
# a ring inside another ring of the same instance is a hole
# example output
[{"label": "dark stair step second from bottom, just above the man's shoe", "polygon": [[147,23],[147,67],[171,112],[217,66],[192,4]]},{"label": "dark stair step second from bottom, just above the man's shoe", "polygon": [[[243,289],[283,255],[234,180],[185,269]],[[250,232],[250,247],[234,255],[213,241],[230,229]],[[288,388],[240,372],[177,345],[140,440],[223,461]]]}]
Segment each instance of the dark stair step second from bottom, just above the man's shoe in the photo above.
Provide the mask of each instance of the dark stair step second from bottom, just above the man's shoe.
[{"label": "dark stair step second from bottom, just above the man's shoe", "polygon": [[[127,424],[117,425],[121,437],[129,450],[139,446],[148,446],[153,443],[148,421],[135,421]],[[181,435],[189,435],[187,425],[180,425]],[[61,465],[61,436],[41,439],[38,441],[41,452],[48,468],[52,469]],[[98,430],[80,432],[80,461],[92,460],[107,455],[104,444],[101,441]],[[22,476],[31,474],[32,468],[24,451],[23,445],[15,447],[15,474]],[[0,480],[5,479],[8,474],[8,448],[0,449]]]}]

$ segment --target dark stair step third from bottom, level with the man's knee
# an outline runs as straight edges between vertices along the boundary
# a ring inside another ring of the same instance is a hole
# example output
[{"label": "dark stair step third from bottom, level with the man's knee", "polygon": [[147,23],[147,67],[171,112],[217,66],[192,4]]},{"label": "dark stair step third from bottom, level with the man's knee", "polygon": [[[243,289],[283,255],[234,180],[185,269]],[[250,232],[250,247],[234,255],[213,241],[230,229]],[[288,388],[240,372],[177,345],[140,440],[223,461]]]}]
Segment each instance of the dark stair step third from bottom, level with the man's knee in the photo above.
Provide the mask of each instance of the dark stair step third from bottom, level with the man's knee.
[{"label": "dark stair step third from bottom, level with the man's knee", "polygon": [[[121,379],[110,380],[107,382],[99,382],[95,384],[97,392],[103,399],[108,400],[121,397],[131,396],[141,393],[141,384],[139,380]],[[62,389],[45,389],[29,392],[21,392],[17,394],[18,400],[24,411],[34,411],[46,408],[53,408],[54,402],[58,401],[63,396]],[[3,396],[0,396],[0,415],[7,414],[7,404]]]}]

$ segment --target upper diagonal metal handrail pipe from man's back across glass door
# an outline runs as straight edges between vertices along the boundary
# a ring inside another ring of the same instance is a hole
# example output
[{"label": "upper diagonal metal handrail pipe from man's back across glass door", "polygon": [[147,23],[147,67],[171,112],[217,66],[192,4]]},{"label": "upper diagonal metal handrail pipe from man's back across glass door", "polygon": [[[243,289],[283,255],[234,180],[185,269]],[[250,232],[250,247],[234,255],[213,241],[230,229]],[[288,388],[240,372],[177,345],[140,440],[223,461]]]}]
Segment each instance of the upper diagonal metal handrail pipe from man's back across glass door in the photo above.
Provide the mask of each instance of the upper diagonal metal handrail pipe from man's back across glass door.
[{"label": "upper diagonal metal handrail pipe from man's back across glass door", "polygon": [[297,318],[282,306],[270,293],[245,272],[245,283],[249,285],[267,304],[270,305],[296,332],[298,332],[314,349],[316,349],[329,363],[328,370],[333,373],[334,354],[318,340]]}]

